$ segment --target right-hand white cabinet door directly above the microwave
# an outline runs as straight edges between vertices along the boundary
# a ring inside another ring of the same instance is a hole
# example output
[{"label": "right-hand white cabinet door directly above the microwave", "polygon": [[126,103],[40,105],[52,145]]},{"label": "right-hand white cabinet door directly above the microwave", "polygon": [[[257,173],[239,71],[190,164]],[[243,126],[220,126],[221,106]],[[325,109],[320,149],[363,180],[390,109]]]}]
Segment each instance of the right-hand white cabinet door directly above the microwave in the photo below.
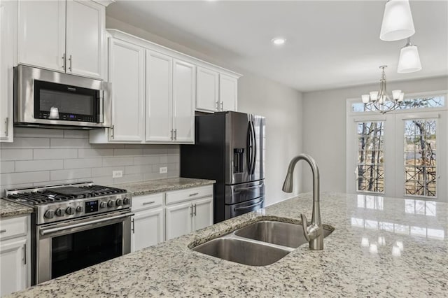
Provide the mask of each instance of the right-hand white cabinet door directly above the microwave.
[{"label": "right-hand white cabinet door directly above the microwave", "polygon": [[102,78],[106,8],[85,0],[66,6],[66,72]]}]

